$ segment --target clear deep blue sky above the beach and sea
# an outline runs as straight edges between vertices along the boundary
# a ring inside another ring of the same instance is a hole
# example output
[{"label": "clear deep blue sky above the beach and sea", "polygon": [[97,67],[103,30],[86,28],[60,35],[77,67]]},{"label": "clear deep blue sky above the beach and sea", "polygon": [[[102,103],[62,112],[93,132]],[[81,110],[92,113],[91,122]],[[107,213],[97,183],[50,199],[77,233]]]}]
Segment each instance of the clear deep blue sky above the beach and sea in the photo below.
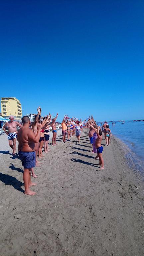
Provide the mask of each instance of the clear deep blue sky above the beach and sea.
[{"label": "clear deep blue sky above the beach and sea", "polygon": [[23,115],[144,118],[144,1],[0,1],[0,97]]}]

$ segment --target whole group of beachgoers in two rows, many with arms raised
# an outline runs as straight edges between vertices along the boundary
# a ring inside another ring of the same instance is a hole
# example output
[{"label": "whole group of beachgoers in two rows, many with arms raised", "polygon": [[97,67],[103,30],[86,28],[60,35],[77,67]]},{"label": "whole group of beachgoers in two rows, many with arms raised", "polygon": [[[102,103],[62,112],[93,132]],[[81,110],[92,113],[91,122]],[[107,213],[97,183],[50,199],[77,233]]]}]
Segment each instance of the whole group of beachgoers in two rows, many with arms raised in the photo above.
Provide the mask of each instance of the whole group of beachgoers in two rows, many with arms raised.
[{"label": "whole group of beachgoers in two rows, many with arms raised", "polygon": [[[13,149],[13,156],[15,156],[16,154],[16,140],[18,140],[18,155],[24,167],[24,193],[27,195],[36,194],[35,192],[30,190],[31,186],[37,185],[37,183],[33,183],[31,181],[31,176],[37,178],[37,175],[34,173],[34,167],[39,166],[40,164],[38,158],[41,159],[44,156],[42,153],[43,146],[44,152],[48,153],[49,151],[48,141],[50,137],[50,126],[52,127],[53,132],[52,145],[57,145],[56,119],[58,117],[58,113],[56,117],[52,120],[51,114],[49,113],[49,115],[45,116],[43,118],[43,121],[41,121],[40,119],[42,109],[38,107],[37,110],[38,114],[35,116],[35,120],[32,123],[28,116],[23,116],[22,125],[14,121],[13,116],[10,116],[10,121],[6,122],[3,126],[5,133],[8,135],[9,145]],[[108,146],[110,142],[110,135],[112,136],[109,125],[105,121],[101,130],[101,127],[97,126],[92,116],[91,118],[88,118],[87,122],[85,121],[86,119],[82,122],[81,119],[80,121],[78,121],[76,118],[69,118],[68,115],[65,115],[61,123],[63,142],[66,142],[66,135],[68,136],[68,141],[70,141],[70,137],[75,134],[79,143],[80,133],[84,124],[85,127],[89,128],[88,136],[90,139],[90,143],[92,144],[92,153],[97,154],[96,159],[99,159],[99,165],[101,166],[100,169],[104,169],[104,161],[102,157],[103,147],[101,145],[102,131],[106,140],[106,144]],[[17,126],[20,127],[18,132]],[[8,128],[8,131],[6,130],[6,128]]]}]

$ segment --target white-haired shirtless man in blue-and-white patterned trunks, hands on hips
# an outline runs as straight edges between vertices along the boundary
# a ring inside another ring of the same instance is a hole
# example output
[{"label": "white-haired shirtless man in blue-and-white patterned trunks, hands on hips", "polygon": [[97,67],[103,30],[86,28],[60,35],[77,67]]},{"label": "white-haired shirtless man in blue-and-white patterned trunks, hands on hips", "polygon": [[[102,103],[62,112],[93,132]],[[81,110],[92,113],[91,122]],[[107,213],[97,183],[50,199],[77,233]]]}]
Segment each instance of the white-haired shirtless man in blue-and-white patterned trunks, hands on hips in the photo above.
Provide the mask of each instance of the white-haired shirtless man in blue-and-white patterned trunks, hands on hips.
[{"label": "white-haired shirtless man in blue-and-white patterned trunks, hands on hips", "polygon": [[[22,127],[22,125],[14,121],[14,116],[12,115],[9,116],[9,119],[10,121],[5,123],[5,125],[3,126],[3,129],[5,133],[8,135],[9,146],[13,150],[13,156],[15,156],[16,141],[17,141],[17,126]],[[6,131],[6,127],[8,127],[8,132]]]}]

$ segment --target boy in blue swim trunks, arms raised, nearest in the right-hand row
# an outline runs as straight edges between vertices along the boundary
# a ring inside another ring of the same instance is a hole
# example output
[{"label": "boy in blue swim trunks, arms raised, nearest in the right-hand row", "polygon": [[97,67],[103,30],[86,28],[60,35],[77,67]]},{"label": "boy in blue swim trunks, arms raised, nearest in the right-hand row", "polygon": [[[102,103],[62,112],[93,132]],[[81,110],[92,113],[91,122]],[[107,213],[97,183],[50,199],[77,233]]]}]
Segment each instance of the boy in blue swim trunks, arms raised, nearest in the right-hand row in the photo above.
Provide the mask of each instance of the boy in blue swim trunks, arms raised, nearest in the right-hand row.
[{"label": "boy in blue swim trunks, arms raised, nearest in the right-hand row", "polygon": [[100,170],[104,169],[104,161],[103,161],[103,157],[102,157],[103,146],[101,146],[101,141],[102,141],[102,131],[100,129],[100,126],[98,126],[98,128],[97,128],[97,139],[95,141],[95,146],[96,146],[97,154],[98,154],[98,157],[99,157],[99,164],[98,165],[101,166]]}]

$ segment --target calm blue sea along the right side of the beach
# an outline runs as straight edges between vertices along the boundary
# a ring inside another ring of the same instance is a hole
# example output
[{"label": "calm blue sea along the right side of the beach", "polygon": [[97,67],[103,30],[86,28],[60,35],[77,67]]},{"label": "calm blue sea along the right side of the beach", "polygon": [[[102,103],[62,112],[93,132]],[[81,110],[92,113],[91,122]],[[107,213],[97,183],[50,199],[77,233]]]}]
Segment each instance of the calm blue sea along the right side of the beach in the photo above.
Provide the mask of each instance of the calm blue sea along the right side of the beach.
[{"label": "calm blue sea along the right side of the beach", "polygon": [[111,133],[127,145],[128,164],[144,174],[144,121],[113,121],[107,122]]}]

